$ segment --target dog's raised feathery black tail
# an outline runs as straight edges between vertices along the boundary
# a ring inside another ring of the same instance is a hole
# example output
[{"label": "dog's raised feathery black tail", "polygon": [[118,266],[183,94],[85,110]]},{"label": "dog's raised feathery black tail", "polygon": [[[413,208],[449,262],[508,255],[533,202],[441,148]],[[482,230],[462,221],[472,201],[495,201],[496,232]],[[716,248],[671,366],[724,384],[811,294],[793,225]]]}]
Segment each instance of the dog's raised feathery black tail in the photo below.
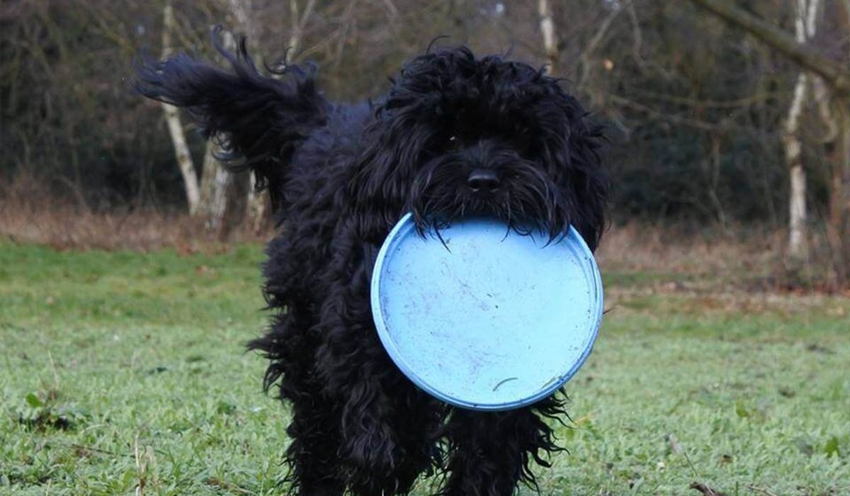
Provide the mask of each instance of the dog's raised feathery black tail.
[{"label": "dog's raised feathery black tail", "polygon": [[232,71],[177,54],[139,64],[135,89],[186,108],[207,137],[221,140],[224,153],[218,158],[233,170],[252,170],[258,189],[268,188],[277,210],[293,151],[326,122],[330,105],[316,89],[312,68],[286,66],[279,77],[263,76],[247,54],[245,38],[232,53],[219,31],[213,31],[212,42]]}]

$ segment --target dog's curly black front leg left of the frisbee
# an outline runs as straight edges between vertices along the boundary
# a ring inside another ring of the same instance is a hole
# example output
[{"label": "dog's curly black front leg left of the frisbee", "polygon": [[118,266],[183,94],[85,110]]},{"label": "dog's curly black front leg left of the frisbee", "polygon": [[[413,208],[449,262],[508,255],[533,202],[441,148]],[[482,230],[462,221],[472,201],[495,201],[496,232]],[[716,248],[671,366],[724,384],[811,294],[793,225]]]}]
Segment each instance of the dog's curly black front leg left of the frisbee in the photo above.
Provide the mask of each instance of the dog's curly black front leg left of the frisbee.
[{"label": "dog's curly black front leg left of the frisbee", "polygon": [[339,415],[341,471],[362,496],[406,494],[436,464],[433,436],[443,408],[390,361],[371,317],[377,245],[346,227],[337,233],[316,354],[325,395]]}]

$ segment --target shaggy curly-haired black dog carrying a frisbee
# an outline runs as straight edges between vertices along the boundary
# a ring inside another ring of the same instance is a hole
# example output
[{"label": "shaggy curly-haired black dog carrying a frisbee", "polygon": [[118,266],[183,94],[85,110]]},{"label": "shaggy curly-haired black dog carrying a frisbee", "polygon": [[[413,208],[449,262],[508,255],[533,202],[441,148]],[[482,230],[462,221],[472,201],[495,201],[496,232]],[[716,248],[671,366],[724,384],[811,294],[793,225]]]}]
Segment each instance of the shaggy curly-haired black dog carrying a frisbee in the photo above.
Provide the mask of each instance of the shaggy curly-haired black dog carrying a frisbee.
[{"label": "shaggy curly-haired black dog carrying a frisbee", "polygon": [[261,75],[244,42],[218,50],[232,71],[181,54],[141,67],[137,88],[225,136],[231,165],[268,187],[282,225],[264,265],[275,316],[250,347],[292,406],[293,491],[405,494],[433,470],[447,471],[445,495],[536,486],[532,462],[558,449],[545,420],[564,414],[560,396],[483,413],[420,391],[377,338],[371,270],[406,212],[422,230],[482,213],[553,237],[572,224],[595,248],[608,190],[598,128],[543,71],[467,48],[417,57],[362,105],[328,102],[302,67]]}]

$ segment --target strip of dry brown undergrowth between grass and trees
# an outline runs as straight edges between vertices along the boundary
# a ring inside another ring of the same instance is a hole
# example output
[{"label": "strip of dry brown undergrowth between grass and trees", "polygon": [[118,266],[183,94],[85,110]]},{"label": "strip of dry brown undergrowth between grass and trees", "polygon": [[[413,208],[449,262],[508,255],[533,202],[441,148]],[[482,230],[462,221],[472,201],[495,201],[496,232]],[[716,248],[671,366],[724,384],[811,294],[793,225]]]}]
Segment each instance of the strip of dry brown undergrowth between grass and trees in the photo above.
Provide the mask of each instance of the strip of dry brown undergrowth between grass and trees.
[{"label": "strip of dry brown undergrowth between grass and trees", "polygon": [[[39,191],[32,180],[16,179],[0,187],[0,237],[12,242],[38,243],[57,249],[129,249],[150,251],[173,248],[178,253],[216,253],[233,242],[265,242],[274,231],[252,232],[237,227],[210,232],[198,219],[179,212],[139,208],[123,213],[95,212],[81,200],[59,200]],[[816,264],[789,273],[783,265],[783,230],[760,227],[693,225],[612,225],[597,252],[606,271],[649,272],[689,276],[672,278],[665,291],[733,286],[747,289],[821,290]],[[817,237],[813,252],[825,243]]]}]

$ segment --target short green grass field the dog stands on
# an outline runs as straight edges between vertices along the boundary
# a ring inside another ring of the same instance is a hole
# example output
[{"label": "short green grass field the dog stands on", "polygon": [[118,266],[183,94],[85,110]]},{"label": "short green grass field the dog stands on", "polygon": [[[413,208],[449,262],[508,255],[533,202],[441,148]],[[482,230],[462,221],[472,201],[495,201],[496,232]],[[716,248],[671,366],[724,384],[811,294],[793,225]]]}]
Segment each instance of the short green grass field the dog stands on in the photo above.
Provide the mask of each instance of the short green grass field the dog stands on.
[{"label": "short green grass field the dog stands on", "polygon": [[[261,259],[0,243],[0,494],[279,493],[287,413],[243,351]],[[543,494],[850,493],[846,298],[604,275]]]}]

